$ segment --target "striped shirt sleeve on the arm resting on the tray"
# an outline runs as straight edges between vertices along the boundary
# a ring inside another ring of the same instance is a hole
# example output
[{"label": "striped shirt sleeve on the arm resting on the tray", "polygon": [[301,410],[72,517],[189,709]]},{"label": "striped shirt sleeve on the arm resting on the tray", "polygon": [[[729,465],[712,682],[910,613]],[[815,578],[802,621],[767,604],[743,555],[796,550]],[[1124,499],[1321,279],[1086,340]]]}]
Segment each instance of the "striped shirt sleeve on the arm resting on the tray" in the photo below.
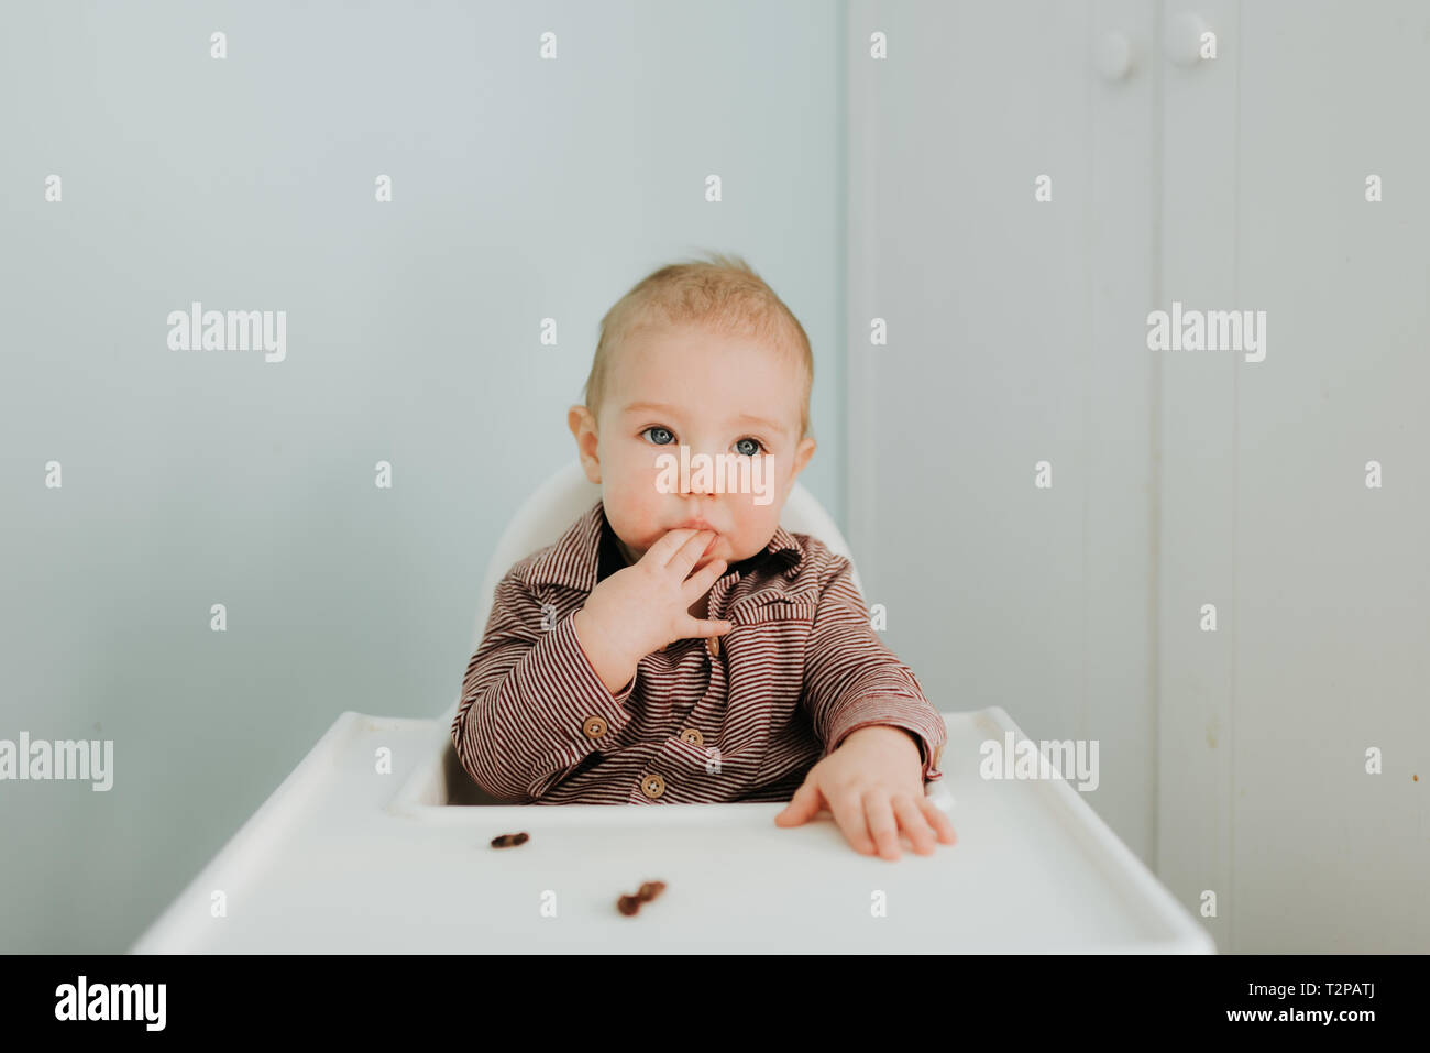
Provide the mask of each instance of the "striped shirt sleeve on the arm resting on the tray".
[{"label": "striped shirt sleeve on the arm resting on the tray", "polygon": [[852,564],[837,557],[824,585],[805,657],[804,702],[828,757],[851,731],[885,724],[918,740],[925,783],[942,778],[938,761],[948,725],[924,697],[918,678],[869,625]]}]

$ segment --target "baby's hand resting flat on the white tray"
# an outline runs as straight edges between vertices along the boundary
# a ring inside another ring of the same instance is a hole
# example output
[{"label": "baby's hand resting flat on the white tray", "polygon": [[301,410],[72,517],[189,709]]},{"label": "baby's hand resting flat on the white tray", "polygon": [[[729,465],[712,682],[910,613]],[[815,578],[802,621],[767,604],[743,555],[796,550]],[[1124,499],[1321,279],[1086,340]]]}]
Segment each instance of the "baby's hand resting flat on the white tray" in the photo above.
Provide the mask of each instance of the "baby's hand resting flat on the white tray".
[{"label": "baby's hand resting flat on the white tray", "polygon": [[859,728],[809,770],[775,824],[797,827],[828,808],[864,856],[899,858],[899,830],[915,853],[931,856],[935,834],[944,844],[954,843],[954,824],[924,795],[922,768],[918,744],[904,728]]}]

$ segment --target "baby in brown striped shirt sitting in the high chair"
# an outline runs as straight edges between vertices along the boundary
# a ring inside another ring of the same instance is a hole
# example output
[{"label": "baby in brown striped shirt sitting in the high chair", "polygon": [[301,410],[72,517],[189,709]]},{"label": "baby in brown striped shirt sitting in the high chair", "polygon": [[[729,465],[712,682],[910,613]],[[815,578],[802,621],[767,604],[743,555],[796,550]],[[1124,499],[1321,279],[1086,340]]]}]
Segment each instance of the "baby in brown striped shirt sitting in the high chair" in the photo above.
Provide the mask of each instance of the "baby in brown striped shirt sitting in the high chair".
[{"label": "baby in brown striped shirt sitting in the high chair", "polygon": [[804,328],[738,258],[662,268],[606,313],[568,413],[601,501],[502,578],[452,723],[486,793],[788,801],[778,826],[827,808],[891,860],[901,831],[924,856],[954,843],[924,790],[942,717],[849,561],[779,525],[812,382]]}]

